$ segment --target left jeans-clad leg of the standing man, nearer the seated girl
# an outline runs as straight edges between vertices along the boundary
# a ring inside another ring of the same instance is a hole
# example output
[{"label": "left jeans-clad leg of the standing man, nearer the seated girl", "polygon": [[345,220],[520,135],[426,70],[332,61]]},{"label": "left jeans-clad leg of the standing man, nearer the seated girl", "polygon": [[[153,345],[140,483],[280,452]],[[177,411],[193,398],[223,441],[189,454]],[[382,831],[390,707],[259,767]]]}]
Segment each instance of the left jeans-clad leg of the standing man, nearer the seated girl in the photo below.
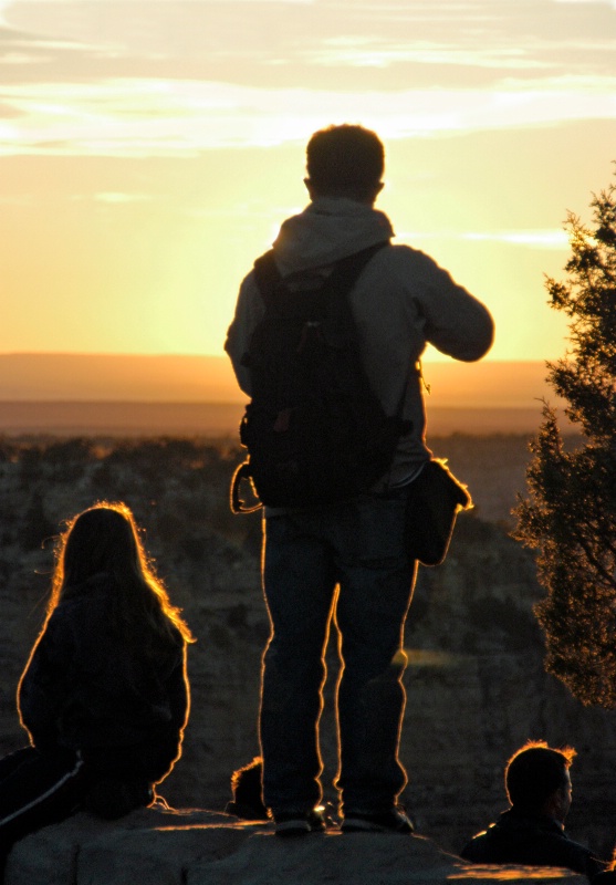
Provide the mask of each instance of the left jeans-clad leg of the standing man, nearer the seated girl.
[{"label": "left jeans-clad leg of the standing man, nearer the seated girl", "polygon": [[260,738],[263,799],[274,816],[305,814],[321,801],[317,729],[335,585],[319,519],[265,520],[263,586],[271,636],[263,656]]}]

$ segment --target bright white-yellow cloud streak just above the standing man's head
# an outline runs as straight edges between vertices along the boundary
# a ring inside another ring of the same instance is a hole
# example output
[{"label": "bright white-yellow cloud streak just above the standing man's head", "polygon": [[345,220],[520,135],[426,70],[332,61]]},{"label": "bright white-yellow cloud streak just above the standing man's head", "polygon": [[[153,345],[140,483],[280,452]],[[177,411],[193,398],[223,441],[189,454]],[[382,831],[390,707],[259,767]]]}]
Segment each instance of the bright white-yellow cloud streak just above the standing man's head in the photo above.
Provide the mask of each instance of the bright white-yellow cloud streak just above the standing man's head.
[{"label": "bright white-yellow cloud streak just above the standing man's head", "polygon": [[370,93],[111,80],[4,86],[0,155],[147,156],[303,142],[324,122],[384,137],[455,135],[616,117],[615,77],[503,82],[498,90]]}]

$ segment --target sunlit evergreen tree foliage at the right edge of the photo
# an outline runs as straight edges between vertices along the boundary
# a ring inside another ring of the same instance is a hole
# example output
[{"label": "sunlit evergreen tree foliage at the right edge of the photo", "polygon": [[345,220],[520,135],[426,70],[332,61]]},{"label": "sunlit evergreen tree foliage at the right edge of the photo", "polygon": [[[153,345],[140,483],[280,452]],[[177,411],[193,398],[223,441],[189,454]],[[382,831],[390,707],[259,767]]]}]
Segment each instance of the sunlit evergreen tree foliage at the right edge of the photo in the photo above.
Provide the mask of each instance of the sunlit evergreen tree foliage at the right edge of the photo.
[{"label": "sunlit evergreen tree foliage at the right edge of the photo", "polygon": [[616,707],[616,186],[591,207],[591,226],[567,216],[566,281],[546,281],[551,306],[570,320],[570,347],[547,363],[547,381],[583,442],[567,450],[545,405],[515,534],[537,550],[547,591],[535,607],[546,669],[583,704]]}]

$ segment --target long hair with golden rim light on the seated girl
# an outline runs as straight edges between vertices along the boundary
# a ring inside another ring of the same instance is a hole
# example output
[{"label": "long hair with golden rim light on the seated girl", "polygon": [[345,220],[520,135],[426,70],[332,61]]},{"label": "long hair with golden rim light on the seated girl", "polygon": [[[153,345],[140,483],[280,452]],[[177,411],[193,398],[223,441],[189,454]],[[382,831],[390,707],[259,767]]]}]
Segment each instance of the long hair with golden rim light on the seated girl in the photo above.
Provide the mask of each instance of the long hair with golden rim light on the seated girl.
[{"label": "long hair with golden rim light on the seated girl", "polygon": [[[90,577],[104,573],[113,587],[114,633],[146,654],[156,645],[195,642],[181,612],[148,559],[130,509],[103,501],[77,513],[56,550],[48,620],[64,600],[75,598]],[[174,629],[175,628],[175,629]]]}]

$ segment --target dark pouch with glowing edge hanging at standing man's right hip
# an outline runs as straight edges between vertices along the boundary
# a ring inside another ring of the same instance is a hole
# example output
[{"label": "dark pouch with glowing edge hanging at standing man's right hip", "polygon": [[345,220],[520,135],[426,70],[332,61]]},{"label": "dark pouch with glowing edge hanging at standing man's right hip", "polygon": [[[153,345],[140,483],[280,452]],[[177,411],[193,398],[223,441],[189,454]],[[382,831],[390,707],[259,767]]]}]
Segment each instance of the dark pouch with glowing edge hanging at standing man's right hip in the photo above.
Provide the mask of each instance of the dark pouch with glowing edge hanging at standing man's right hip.
[{"label": "dark pouch with glowing edge hanging at standing man's right hip", "polygon": [[429,460],[408,485],[405,531],[409,556],[424,565],[440,565],[459,511],[471,507],[467,487],[456,479],[445,461]]}]

